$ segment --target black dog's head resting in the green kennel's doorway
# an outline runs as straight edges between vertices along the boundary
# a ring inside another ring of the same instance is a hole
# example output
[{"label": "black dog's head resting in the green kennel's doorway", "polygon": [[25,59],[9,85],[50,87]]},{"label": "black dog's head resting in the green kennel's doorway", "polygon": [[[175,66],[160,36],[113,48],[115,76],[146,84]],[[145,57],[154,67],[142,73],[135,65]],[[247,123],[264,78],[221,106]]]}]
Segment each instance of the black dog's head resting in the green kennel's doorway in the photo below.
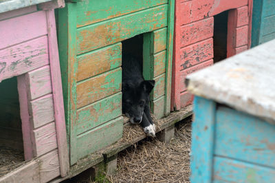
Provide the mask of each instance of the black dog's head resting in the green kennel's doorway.
[{"label": "black dog's head resting in the green kennel's doorway", "polygon": [[122,111],[131,123],[142,122],[144,107],[154,86],[155,80],[143,80],[138,85],[129,81],[122,83]]}]

